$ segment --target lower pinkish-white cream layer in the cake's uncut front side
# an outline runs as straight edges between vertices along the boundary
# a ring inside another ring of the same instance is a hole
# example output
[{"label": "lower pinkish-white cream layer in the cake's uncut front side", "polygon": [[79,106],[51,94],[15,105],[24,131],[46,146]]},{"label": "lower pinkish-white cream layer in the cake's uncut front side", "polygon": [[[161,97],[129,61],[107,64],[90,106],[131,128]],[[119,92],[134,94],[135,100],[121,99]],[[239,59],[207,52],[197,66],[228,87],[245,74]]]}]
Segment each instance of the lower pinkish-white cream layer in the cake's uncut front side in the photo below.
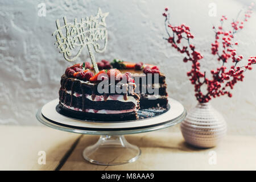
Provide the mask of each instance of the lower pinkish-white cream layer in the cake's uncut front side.
[{"label": "lower pinkish-white cream layer in the cake's uncut front side", "polygon": [[128,109],[128,110],[105,110],[105,109],[102,109],[102,110],[96,110],[96,109],[82,110],[82,109],[77,108],[77,107],[68,106],[68,105],[65,105],[63,103],[61,103],[61,104],[65,107],[67,107],[68,109],[71,109],[71,110],[83,111],[83,112],[86,112],[86,113],[98,113],[98,114],[121,114],[121,113],[130,113],[130,112],[133,112],[133,111],[137,110],[136,108]]}]

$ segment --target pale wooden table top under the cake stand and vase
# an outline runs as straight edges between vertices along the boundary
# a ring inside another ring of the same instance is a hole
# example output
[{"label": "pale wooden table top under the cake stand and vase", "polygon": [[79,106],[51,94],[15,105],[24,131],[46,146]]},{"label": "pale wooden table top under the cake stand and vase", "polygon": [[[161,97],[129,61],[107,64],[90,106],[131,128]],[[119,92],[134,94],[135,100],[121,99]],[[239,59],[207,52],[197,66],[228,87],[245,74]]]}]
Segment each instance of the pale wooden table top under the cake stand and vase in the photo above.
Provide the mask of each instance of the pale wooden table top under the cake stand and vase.
[{"label": "pale wooden table top under the cake stand and vase", "polygon": [[[228,135],[214,148],[199,149],[181,133],[167,130],[127,135],[142,150],[140,158],[121,166],[97,166],[82,158],[82,150],[98,136],[80,135],[44,126],[0,125],[1,170],[237,170],[256,169],[256,137]],[[39,151],[46,164],[39,164]]]}]

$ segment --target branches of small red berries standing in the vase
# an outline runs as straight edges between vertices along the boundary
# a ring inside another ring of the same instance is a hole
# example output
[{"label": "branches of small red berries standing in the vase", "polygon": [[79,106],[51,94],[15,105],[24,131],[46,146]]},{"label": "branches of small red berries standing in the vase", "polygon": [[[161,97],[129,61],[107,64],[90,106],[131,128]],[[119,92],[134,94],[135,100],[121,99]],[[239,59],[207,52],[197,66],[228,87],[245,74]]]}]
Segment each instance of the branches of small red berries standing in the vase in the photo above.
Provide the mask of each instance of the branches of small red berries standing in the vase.
[{"label": "branches of small red berries standing in the vase", "polygon": [[[253,12],[251,10],[253,6],[254,4],[251,3],[251,6],[248,7],[242,21],[237,20],[241,11],[238,13],[237,18],[232,20],[231,30],[224,30],[223,24],[225,20],[228,19],[226,16],[222,16],[220,19],[220,26],[213,26],[215,41],[212,43],[211,53],[212,55],[216,55],[217,60],[221,61],[222,64],[221,67],[210,71],[210,78],[206,77],[206,72],[201,72],[199,60],[203,59],[203,55],[196,51],[195,46],[190,43],[191,39],[194,38],[190,28],[184,24],[173,26],[170,23],[168,9],[165,9],[163,16],[166,18],[165,27],[168,35],[166,40],[178,52],[185,55],[183,59],[185,63],[191,61],[192,69],[187,72],[187,76],[189,77],[191,84],[195,86],[195,96],[200,103],[209,102],[212,97],[215,98],[225,94],[232,97],[232,93],[230,93],[228,89],[233,89],[238,81],[243,81],[243,73],[247,69],[251,70],[252,64],[256,64],[256,56],[251,56],[246,65],[243,65],[242,67],[238,66],[238,63],[243,59],[243,56],[237,55],[236,48],[234,48],[238,45],[237,42],[234,42],[234,34],[242,30],[244,22],[247,22]],[[228,66],[226,67],[225,65],[230,60],[232,60],[233,65],[228,68]],[[202,92],[203,86],[206,87],[204,93]]]}]

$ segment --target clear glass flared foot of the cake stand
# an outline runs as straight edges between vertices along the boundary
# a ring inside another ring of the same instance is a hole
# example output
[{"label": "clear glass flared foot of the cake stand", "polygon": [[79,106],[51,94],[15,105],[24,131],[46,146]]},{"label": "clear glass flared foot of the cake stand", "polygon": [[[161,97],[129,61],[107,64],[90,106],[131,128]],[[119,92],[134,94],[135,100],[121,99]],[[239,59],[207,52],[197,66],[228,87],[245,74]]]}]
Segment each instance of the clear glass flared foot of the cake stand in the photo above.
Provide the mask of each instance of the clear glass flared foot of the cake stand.
[{"label": "clear glass flared foot of the cake stand", "polygon": [[82,152],[90,163],[107,166],[134,162],[139,155],[139,147],[127,142],[123,135],[101,135],[97,143]]}]

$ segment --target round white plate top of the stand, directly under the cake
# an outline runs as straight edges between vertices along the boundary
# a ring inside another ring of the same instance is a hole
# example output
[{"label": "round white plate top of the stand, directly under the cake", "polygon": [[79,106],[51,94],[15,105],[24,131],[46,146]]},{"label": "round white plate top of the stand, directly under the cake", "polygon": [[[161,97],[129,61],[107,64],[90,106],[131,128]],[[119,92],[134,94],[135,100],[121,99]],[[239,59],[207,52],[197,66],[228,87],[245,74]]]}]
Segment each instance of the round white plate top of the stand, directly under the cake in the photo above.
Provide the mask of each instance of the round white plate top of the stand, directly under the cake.
[{"label": "round white plate top of the stand, directly under the cake", "polygon": [[[170,104],[170,110],[166,113],[160,114],[156,117],[139,119],[131,122],[88,122],[81,121],[79,119],[72,119],[59,114],[56,111],[56,106],[59,104],[59,99],[52,100],[42,107],[41,113],[44,119],[55,125],[61,125],[65,127],[73,127],[84,130],[133,130],[139,128],[146,128],[152,126],[163,125],[167,122],[175,121],[175,119],[184,119],[185,109],[178,101],[168,98]],[[180,118],[182,116],[182,118]]]}]

